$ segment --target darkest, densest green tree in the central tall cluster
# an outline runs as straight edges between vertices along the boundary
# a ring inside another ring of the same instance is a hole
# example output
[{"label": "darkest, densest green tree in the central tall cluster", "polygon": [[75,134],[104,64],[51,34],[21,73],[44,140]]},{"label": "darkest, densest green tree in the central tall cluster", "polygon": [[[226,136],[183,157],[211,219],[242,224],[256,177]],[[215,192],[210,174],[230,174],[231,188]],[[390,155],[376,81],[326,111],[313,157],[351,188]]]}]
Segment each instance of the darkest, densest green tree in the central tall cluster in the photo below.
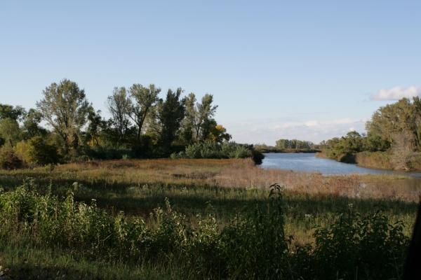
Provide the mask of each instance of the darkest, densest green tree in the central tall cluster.
[{"label": "darkest, densest green tree in the central tall cluster", "polygon": [[163,146],[171,146],[181,127],[181,121],[185,118],[185,99],[180,99],[183,90],[181,87],[173,92],[168,90],[166,99],[159,99],[159,106],[156,110]]}]

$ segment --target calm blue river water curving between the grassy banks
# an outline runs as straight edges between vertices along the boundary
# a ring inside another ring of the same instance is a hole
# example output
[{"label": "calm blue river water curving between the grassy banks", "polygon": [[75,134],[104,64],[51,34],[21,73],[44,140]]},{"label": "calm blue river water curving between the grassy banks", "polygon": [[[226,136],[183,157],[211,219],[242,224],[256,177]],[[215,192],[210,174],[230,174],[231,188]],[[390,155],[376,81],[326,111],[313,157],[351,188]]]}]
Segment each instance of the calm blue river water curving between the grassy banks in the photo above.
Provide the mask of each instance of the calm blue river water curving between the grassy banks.
[{"label": "calm blue river water curving between the grassy banks", "polygon": [[399,174],[421,177],[419,172],[401,172],[394,170],[368,169],[349,165],[326,158],[316,158],[315,153],[265,153],[262,168],[289,169],[302,172],[320,172],[323,175],[334,174]]}]

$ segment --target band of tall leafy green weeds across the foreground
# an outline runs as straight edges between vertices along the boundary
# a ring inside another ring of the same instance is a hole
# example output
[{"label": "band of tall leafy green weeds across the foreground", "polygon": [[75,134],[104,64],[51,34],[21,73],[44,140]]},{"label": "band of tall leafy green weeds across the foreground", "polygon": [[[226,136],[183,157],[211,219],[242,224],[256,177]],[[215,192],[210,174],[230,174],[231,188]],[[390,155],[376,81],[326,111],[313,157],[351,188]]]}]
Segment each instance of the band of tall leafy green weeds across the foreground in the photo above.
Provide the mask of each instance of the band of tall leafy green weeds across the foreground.
[{"label": "band of tall leafy green weeds across the foreground", "polygon": [[[225,225],[217,223],[210,203],[192,225],[166,199],[146,223],[121,211],[109,215],[95,200],[76,202],[71,190],[58,199],[51,195],[56,187],[39,195],[28,181],[15,190],[0,190],[1,240],[20,237],[25,246],[100,263],[176,260],[185,276],[193,272],[195,279],[400,279],[403,272],[409,238],[403,223],[392,223],[382,209],[361,216],[349,204],[330,225],[316,228],[314,246],[291,251],[277,184],[267,200],[247,205]],[[73,184],[74,191],[79,188]]]}]

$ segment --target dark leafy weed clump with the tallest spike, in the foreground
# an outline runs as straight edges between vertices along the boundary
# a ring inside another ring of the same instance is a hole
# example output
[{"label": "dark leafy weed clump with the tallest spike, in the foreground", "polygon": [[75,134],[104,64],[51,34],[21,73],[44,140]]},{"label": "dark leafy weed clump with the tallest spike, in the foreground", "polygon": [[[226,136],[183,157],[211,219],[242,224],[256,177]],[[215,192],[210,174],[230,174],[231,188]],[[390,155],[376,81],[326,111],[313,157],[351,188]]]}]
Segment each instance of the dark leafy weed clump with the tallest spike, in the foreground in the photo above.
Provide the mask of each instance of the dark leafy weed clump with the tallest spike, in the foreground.
[{"label": "dark leafy weed clump with the tallest spike, in the foreground", "polygon": [[271,186],[269,202],[232,221],[222,231],[222,252],[227,274],[234,279],[285,279],[288,243],[284,236],[281,187]]}]

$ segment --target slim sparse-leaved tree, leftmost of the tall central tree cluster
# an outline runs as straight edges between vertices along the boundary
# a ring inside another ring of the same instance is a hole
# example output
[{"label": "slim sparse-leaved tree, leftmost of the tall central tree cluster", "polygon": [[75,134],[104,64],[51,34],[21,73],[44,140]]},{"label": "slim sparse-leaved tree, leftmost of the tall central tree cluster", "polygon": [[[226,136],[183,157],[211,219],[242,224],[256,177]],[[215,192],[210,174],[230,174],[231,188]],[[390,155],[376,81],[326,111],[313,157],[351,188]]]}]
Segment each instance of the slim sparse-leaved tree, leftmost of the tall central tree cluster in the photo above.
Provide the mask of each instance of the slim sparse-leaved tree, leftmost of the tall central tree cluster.
[{"label": "slim sparse-leaved tree, leftmost of the tall central tree cluster", "polygon": [[113,94],[107,98],[106,106],[114,119],[119,132],[119,144],[122,145],[129,123],[128,116],[131,113],[131,100],[128,98],[126,87],[114,87]]}]

